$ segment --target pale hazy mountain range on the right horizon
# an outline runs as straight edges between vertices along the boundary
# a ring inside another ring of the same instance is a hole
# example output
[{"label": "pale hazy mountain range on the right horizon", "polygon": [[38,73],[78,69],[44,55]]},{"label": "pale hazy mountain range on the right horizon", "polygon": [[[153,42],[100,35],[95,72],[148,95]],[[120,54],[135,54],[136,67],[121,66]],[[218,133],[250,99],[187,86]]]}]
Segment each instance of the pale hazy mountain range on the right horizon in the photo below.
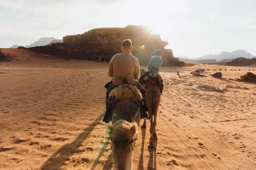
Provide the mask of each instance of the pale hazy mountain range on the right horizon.
[{"label": "pale hazy mountain range on the right horizon", "polygon": [[253,58],[255,56],[251,55],[251,53],[246,52],[245,50],[236,50],[233,52],[221,52],[219,55],[218,54],[209,54],[206,56],[193,58],[193,59],[195,59],[195,60],[214,59],[214,60],[220,61],[220,60],[224,60],[224,59],[234,59],[234,58],[239,58],[239,57]]}]

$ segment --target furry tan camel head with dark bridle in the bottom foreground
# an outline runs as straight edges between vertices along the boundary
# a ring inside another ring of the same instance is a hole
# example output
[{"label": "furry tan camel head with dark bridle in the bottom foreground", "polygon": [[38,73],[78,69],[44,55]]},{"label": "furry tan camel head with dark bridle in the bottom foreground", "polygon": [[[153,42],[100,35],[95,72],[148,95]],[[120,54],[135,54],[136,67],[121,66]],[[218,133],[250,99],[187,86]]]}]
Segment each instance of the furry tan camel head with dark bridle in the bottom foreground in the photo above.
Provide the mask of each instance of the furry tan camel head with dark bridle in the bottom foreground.
[{"label": "furry tan camel head with dark bridle in the bottom foreground", "polygon": [[125,120],[118,120],[108,126],[111,139],[114,170],[132,170],[134,140],[138,134],[138,125]]}]

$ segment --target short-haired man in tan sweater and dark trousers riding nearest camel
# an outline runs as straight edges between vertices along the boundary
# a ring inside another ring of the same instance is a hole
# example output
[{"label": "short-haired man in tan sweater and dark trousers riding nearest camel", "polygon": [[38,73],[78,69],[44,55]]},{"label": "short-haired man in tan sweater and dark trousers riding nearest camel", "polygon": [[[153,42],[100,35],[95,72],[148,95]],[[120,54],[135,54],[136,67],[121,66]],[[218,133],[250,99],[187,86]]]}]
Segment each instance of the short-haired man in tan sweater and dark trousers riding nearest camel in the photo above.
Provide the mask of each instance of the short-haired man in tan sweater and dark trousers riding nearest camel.
[{"label": "short-haired man in tan sweater and dark trousers riding nearest camel", "polygon": [[[111,120],[111,111],[113,108],[108,106],[109,102],[109,94],[111,90],[118,85],[123,83],[128,83],[134,85],[140,90],[143,97],[145,97],[145,89],[138,82],[140,78],[140,65],[138,62],[138,58],[134,57],[131,52],[133,50],[131,40],[124,40],[122,42],[122,51],[123,53],[116,54],[112,57],[109,64],[108,75],[113,77],[112,81],[109,82],[105,87],[108,89],[106,92],[106,108],[105,117],[103,122],[109,122]],[[110,99],[111,100],[111,99]],[[146,111],[146,102],[143,100],[142,103],[144,106],[141,108],[141,118],[145,118],[150,120]]]}]

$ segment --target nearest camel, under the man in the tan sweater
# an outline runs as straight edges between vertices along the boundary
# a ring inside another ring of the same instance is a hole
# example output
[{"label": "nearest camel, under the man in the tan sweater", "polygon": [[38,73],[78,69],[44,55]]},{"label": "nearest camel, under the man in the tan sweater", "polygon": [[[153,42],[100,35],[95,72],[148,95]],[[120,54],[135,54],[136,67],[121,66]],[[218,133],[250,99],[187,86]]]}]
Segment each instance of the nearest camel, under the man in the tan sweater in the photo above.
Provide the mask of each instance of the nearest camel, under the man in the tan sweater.
[{"label": "nearest camel, under the man in the tan sweater", "polygon": [[120,100],[113,110],[112,125],[108,125],[114,170],[133,169],[133,148],[137,139],[141,115],[138,101],[142,95],[133,85],[119,85],[110,92]]}]

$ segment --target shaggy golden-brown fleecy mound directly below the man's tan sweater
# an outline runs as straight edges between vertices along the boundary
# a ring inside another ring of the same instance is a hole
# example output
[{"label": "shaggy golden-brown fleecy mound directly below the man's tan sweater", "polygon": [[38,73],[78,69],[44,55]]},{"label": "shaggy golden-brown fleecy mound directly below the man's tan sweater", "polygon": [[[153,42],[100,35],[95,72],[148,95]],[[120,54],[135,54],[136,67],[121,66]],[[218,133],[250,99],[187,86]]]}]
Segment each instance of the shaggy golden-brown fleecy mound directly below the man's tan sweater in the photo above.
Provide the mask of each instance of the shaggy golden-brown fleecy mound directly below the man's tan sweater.
[{"label": "shaggy golden-brown fleecy mound directly below the man's tan sweater", "polygon": [[133,102],[141,101],[142,95],[141,92],[138,90],[138,88],[134,85],[130,84],[121,84],[118,87],[115,87],[110,92],[110,97],[114,97],[115,99],[129,99]]}]

